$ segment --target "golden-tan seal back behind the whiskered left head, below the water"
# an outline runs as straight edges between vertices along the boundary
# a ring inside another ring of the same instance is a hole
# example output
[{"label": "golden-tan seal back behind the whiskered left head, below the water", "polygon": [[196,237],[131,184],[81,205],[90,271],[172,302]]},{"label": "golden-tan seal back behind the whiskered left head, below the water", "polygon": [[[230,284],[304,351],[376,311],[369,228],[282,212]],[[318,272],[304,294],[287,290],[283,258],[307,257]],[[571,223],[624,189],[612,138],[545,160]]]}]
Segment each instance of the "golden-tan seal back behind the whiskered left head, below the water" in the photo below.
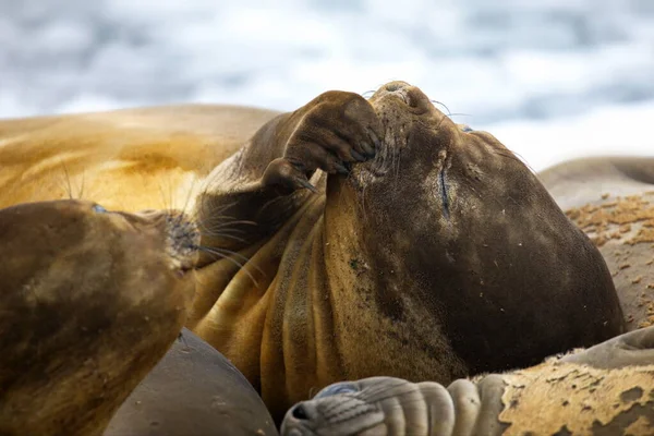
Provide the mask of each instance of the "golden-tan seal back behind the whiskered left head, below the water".
[{"label": "golden-tan seal back behind the whiskered left head, below the water", "polygon": [[276,112],[174,106],[0,120],[0,207],[93,198],[107,208],[182,208],[203,178]]}]

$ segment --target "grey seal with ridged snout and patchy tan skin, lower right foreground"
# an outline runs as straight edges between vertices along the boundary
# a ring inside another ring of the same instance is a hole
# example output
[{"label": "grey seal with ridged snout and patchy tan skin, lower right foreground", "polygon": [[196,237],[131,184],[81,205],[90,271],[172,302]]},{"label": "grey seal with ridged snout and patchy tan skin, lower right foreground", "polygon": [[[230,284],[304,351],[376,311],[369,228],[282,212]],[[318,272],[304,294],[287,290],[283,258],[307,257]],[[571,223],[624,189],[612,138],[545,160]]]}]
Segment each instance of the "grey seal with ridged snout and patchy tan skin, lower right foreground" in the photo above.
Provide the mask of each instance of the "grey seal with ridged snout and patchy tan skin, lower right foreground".
[{"label": "grey seal with ridged snout and patchy tan skin, lower right foreground", "polygon": [[652,435],[654,327],[449,387],[373,377],[293,407],[282,436]]}]

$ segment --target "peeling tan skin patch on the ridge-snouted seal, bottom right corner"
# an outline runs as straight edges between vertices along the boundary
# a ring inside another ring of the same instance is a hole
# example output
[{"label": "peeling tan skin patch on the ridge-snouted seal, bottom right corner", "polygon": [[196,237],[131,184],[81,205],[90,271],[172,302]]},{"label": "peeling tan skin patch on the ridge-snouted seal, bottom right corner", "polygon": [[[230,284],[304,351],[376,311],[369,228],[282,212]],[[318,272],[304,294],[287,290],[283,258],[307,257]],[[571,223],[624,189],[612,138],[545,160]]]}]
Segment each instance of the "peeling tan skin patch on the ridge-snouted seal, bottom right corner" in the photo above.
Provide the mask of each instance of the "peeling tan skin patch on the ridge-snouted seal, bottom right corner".
[{"label": "peeling tan skin patch on the ridge-snouted seal, bottom right corner", "polygon": [[505,435],[645,435],[642,425],[654,423],[654,365],[546,363],[504,380]]}]

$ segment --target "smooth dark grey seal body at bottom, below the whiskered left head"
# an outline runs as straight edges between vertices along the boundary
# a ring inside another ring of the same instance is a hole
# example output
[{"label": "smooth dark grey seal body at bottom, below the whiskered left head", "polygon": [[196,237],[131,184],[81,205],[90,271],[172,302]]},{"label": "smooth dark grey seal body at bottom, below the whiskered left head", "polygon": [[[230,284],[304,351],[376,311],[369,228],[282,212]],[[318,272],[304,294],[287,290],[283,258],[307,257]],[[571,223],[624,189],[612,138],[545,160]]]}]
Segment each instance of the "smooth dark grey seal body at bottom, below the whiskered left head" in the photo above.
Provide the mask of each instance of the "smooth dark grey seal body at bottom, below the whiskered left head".
[{"label": "smooth dark grey seal body at bottom, below the whiskered left head", "polygon": [[141,382],[104,436],[276,436],[247,379],[211,346],[182,330]]}]

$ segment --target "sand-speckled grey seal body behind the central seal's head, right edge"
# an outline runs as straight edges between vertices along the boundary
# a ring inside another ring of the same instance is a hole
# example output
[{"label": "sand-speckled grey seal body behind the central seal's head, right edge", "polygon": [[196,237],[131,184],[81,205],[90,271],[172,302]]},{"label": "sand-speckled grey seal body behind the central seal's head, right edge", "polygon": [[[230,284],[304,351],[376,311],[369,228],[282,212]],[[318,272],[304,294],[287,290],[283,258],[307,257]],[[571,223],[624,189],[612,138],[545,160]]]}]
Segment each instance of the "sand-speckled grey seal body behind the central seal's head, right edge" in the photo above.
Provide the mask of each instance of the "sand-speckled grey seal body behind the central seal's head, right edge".
[{"label": "sand-speckled grey seal body behind the central seal's head, right edge", "polygon": [[604,256],[627,328],[654,325],[654,159],[576,159],[540,178]]}]

